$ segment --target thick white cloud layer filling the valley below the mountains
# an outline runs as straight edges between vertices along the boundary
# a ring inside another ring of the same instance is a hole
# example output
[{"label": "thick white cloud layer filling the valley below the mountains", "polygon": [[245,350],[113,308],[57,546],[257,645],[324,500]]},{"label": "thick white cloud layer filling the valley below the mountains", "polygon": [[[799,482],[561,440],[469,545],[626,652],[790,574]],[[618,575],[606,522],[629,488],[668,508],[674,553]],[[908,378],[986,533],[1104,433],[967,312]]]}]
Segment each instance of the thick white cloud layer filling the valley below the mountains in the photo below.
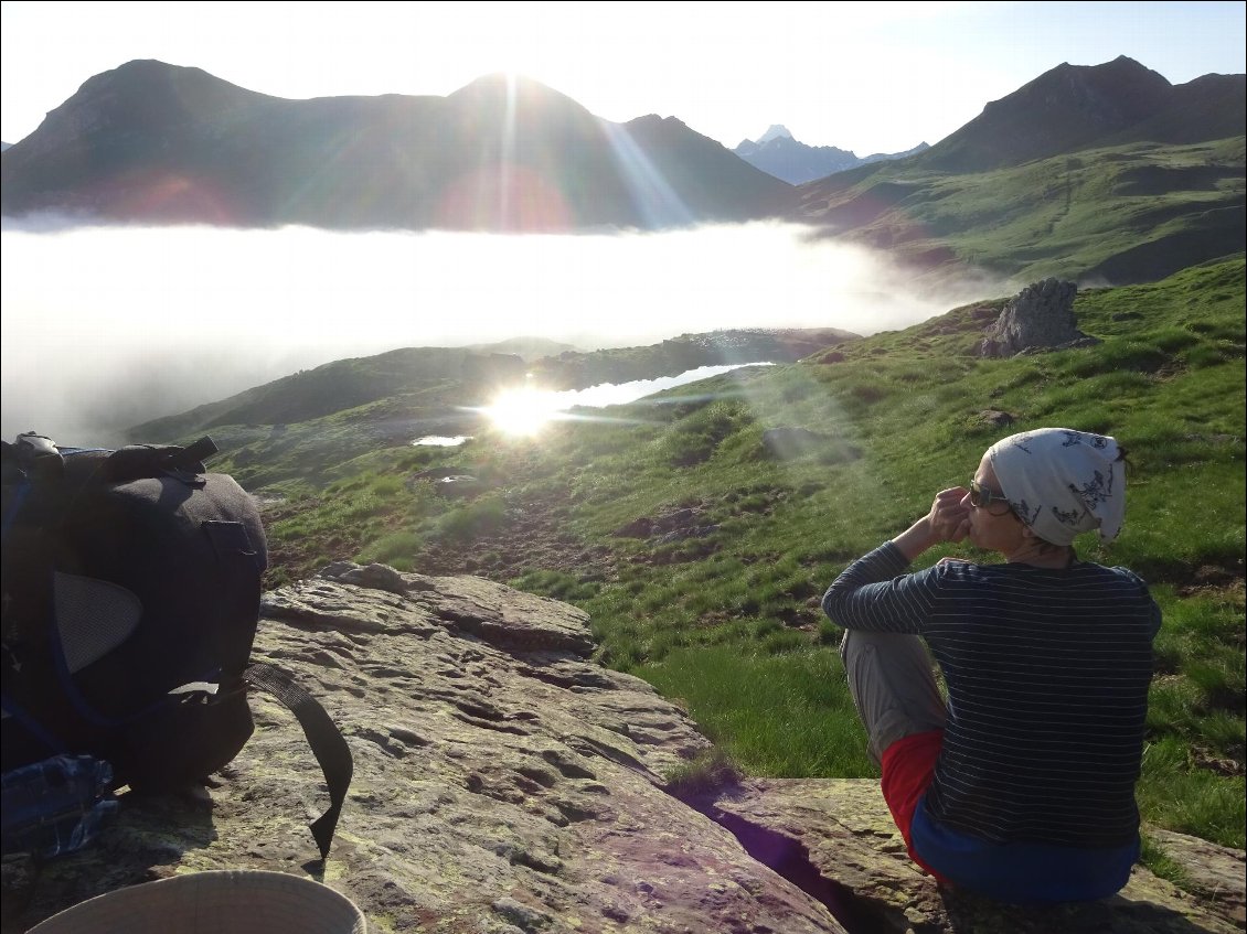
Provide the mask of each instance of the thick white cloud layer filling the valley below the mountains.
[{"label": "thick white cloud layer filling the valley below the mountains", "polygon": [[661,234],[2,228],[2,436],[120,430],[330,360],[544,336],[582,347],[722,328],[908,326],[1008,286],[939,294],[803,229]]}]

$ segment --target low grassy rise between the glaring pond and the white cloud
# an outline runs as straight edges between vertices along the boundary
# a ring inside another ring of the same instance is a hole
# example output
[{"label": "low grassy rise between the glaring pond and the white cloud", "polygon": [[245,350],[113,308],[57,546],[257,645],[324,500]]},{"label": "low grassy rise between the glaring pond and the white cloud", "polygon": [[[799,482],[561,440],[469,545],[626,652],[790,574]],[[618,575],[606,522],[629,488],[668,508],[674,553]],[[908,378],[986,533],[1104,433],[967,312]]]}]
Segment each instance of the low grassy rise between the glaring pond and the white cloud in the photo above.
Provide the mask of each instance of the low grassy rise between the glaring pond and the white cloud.
[{"label": "low grassy rise between the glaring pond and the white cloud", "polygon": [[[700,366],[793,361],[855,337],[837,328],[789,328],[682,334],[660,344],[595,351],[531,337],[474,347],[403,347],[301,370],[218,402],[143,422],[127,435],[136,443],[152,443],[213,431],[231,446],[252,445],[253,460],[268,468],[297,452],[301,460],[278,472],[312,474],[324,466],[324,458],[307,460],[312,451],[325,451],[332,460],[333,450],[349,442],[370,450],[435,430],[473,431],[476,416],[463,406],[485,403],[500,387],[522,382],[525,371],[547,389],[577,390]],[[348,413],[352,408],[359,411]],[[272,432],[271,426],[278,430]],[[350,437],[353,427],[359,430],[355,437]],[[334,436],[328,447],[325,435]],[[261,482],[273,478],[268,469]]]}]

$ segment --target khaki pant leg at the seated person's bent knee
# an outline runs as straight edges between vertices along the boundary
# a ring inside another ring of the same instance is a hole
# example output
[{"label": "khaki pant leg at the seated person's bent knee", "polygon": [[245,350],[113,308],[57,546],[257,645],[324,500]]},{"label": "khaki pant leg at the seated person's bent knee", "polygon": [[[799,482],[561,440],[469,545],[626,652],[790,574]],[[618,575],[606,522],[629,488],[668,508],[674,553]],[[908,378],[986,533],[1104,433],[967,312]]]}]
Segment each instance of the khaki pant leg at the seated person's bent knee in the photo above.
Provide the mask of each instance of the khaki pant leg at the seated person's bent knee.
[{"label": "khaki pant leg at the seated person's bent knee", "polygon": [[944,729],[948,710],[917,635],[845,629],[840,658],[875,763],[897,740]]}]

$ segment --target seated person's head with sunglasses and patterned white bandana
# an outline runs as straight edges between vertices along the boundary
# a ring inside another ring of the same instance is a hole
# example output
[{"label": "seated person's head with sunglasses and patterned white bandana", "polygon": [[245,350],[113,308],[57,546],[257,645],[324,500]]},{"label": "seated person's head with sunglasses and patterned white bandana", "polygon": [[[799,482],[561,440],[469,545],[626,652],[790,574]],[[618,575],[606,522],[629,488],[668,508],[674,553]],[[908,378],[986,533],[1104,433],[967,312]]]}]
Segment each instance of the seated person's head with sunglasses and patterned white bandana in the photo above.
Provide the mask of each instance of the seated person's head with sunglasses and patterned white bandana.
[{"label": "seated person's head with sunglasses and patterned white bandana", "polygon": [[966,497],[970,540],[1005,554],[1023,545],[1064,549],[1091,529],[1112,540],[1125,516],[1124,456],[1114,438],[1070,428],[998,441]]}]

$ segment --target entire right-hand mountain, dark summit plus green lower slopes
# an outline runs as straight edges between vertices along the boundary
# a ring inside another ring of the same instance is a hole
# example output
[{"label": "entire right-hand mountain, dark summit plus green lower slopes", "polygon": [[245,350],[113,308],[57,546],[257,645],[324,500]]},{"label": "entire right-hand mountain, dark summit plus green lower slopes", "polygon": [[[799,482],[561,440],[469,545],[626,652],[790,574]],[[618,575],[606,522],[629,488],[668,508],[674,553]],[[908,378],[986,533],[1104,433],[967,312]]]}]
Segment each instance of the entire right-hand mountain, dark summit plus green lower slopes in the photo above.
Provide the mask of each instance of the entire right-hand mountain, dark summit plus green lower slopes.
[{"label": "entire right-hand mountain, dark summit plus green lower slopes", "polygon": [[1247,245],[1245,90],[1060,65],[923,153],[799,186],[793,219],[934,279],[1155,281]]}]

